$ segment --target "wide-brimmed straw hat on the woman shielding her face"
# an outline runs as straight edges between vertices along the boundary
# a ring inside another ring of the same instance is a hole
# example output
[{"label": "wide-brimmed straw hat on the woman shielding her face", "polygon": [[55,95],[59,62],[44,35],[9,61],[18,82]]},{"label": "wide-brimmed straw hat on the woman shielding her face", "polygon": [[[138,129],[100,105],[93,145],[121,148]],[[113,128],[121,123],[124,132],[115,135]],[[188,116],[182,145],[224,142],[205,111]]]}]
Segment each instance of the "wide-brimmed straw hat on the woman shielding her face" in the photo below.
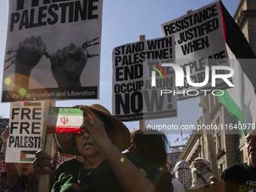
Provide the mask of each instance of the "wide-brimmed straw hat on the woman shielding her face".
[{"label": "wide-brimmed straw hat on the woman shielding her face", "polygon": [[[79,108],[82,105],[75,105],[72,108]],[[120,149],[120,151],[126,150],[130,146],[131,136],[128,128],[118,120],[117,117],[111,115],[111,113],[99,104],[87,105],[88,108],[92,111],[98,111],[99,113],[108,117],[108,120],[111,121],[111,124],[114,128],[114,139],[112,143]],[[59,147],[62,148],[67,154],[80,155],[78,153],[78,148],[75,144],[75,136],[72,133],[56,133],[56,140],[59,144]]]}]

